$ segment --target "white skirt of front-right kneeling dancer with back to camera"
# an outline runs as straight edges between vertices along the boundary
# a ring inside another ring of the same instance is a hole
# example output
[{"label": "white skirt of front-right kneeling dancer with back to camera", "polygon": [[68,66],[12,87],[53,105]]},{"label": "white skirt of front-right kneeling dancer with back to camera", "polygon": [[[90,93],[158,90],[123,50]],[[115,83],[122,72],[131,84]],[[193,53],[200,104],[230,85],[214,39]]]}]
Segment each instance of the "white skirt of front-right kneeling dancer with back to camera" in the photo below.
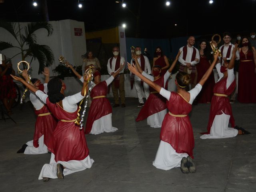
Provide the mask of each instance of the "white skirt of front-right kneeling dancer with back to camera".
[{"label": "white skirt of front-right kneeling dancer with back to camera", "polygon": [[158,169],[170,170],[180,167],[180,161],[187,156],[186,153],[177,153],[169,143],[160,141],[153,165]]}]

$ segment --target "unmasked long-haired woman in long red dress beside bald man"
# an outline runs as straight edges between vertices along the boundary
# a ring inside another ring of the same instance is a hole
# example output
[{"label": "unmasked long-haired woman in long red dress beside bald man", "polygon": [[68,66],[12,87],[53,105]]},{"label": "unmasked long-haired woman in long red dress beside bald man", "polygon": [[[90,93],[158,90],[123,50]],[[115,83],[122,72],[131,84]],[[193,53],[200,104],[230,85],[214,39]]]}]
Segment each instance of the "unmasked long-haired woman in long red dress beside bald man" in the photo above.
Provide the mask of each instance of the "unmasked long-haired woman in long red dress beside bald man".
[{"label": "unmasked long-haired woman in long red dress beside bald man", "polygon": [[[208,46],[206,40],[201,40],[199,44],[199,52],[200,52],[200,61],[196,65],[197,69],[197,83],[204,76],[205,72],[208,70],[211,65],[210,62],[210,52],[208,51]],[[204,87],[200,91],[197,96],[198,103],[210,103],[213,96],[213,87],[214,87],[214,74],[213,72],[210,74],[209,78],[206,80]]]}]

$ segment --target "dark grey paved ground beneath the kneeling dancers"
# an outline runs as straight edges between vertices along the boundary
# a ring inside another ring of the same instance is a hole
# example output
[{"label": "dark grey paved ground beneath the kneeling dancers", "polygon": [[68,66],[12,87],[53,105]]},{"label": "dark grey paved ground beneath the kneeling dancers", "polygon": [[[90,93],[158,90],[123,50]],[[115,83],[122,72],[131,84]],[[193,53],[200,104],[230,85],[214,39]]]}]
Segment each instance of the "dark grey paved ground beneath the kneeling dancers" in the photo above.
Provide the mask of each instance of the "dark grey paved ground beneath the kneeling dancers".
[{"label": "dark grey paved ground beneath the kneeling dancers", "polygon": [[194,158],[197,172],[183,174],[180,168],[164,171],[152,166],[159,144],[160,128],[146,120],[135,122],[138,100],[126,99],[126,108],[113,109],[114,133],[86,135],[92,168],[65,176],[63,180],[38,180],[50,154],[25,155],[16,151],[34,133],[35,116],[30,103],[14,108],[17,124],[0,120],[1,192],[255,192],[256,104],[232,104],[236,124],[252,134],[227,139],[201,140],[206,130],[209,104],[193,106]]}]

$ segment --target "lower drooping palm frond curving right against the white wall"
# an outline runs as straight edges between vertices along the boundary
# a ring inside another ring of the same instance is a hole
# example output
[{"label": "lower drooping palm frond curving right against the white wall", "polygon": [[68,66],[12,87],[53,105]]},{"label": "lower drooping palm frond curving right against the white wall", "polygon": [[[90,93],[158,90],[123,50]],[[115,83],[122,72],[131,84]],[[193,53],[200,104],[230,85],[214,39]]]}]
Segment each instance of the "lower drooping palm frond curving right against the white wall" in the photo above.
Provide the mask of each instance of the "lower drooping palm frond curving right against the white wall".
[{"label": "lower drooping palm frond curving right against the white wall", "polygon": [[39,62],[38,74],[44,70],[45,66],[50,66],[54,62],[52,50],[47,45],[31,44],[27,50],[28,55],[33,55]]}]

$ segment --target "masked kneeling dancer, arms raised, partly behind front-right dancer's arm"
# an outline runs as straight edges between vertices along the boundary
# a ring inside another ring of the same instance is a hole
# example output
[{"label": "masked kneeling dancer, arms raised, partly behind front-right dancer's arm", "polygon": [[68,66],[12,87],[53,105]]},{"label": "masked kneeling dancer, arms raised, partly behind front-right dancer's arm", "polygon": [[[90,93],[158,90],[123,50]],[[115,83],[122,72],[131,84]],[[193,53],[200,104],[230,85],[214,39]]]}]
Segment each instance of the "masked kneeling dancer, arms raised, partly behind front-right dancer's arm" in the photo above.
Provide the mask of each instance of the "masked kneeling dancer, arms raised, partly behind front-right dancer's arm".
[{"label": "masked kneeling dancer, arms raised, partly behind front-right dancer's arm", "polygon": [[[164,74],[164,76],[161,76],[161,66],[154,65],[152,68],[152,74],[148,75],[146,72],[144,72],[140,65],[138,64],[138,60],[136,56],[132,56],[136,63],[136,68],[138,71],[151,80],[152,82],[158,84],[160,87],[163,87],[167,89],[167,80],[170,77],[170,74],[176,65],[176,62],[178,61],[178,58],[180,56],[180,52],[178,52],[175,60],[172,62],[172,66],[167,70]],[[154,90],[154,88],[150,87],[150,95],[148,99],[146,100],[145,105],[140,110],[140,113],[138,114],[138,117],[136,118],[136,121],[142,121],[147,118],[147,124],[152,128],[159,128],[162,126],[162,122],[164,120],[164,116],[167,112],[167,106],[166,106],[166,98],[161,96],[159,92]]]}]

